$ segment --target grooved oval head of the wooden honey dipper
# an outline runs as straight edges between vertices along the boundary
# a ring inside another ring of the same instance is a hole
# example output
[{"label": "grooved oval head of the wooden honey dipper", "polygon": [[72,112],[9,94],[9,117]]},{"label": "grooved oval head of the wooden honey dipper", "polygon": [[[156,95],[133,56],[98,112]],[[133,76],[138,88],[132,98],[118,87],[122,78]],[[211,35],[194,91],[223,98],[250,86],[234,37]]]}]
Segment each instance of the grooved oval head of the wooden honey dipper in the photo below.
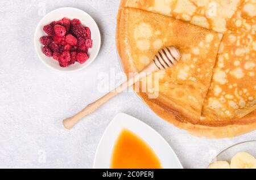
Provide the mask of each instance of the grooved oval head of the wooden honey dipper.
[{"label": "grooved oval head of the wooden honey dipper", "polygon": [[180,60],[180,52],[174,46],[161,49],[154,58],[155,65],[159,70],[170,68]]}]

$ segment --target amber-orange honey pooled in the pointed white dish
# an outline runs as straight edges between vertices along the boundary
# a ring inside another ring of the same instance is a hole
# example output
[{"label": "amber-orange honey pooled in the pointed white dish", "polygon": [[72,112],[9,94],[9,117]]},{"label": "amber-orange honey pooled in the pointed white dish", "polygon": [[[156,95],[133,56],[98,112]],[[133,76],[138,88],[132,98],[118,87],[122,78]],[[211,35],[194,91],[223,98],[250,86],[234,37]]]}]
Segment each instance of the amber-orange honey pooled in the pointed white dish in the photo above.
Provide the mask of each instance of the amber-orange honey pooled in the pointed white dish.
[{"label": "amber-orange honey pooled in the pointed white dish", "polygon": [[133,132],[124,129],[114,146],[112,169],[160,169],[153,149]]}]

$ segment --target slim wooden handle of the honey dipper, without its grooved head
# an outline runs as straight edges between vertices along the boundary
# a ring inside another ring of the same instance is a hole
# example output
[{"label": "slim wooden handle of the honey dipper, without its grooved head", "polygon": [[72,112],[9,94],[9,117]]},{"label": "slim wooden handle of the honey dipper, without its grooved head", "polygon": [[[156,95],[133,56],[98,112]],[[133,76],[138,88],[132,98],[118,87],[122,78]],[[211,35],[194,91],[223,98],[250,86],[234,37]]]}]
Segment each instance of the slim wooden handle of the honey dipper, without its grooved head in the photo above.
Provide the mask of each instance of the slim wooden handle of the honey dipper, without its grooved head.
[{"label": "slim wooden handle of the honey dipper, without its grooved head", "polygon": [[71,118],[65,119],[63,121],[63,125],[68,130],[71,130],[73,126],[76,125],[77,122],[79,122],[82,118],[84,118],[86,115],[89,115],[93,112],[95,112],[98,108],[100,108],[101,105],[105,104],[105,102],[109,101],[111,98],[116,96],[119,92],[122,92],[127,87],[130,87],[134,83],[138,82],[144,76],[146,76],[148,73],[152,73],[159,70],[158,67],[155,66],[155,63],[151,63],[148,65],[142,72],[135,75],[133,78],[130,78],[127,80],[127,82],[119,85],[119,87],[115,88],[113,91],[109,92],[105,96],[99,98],[97,101],[93,102],[92,104],[89,104],[84,109],[81,110],[81,112],[77,113]]}]

